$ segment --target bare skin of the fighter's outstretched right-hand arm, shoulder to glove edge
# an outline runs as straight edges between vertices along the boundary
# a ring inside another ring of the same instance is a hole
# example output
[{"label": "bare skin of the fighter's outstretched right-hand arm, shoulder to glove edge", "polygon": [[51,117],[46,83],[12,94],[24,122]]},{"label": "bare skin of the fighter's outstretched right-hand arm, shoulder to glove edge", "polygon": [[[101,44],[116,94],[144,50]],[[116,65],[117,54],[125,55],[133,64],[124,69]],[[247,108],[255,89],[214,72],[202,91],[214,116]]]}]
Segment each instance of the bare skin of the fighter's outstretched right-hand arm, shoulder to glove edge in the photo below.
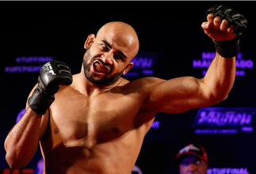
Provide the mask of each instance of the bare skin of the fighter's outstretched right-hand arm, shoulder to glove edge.
[{"label": "bare skin of the fighter's outstretched right-hand arm, shoulder to glove edge", "polygon": [[235,58],[225,59],[216,54],[204,78],[155,79],[146,105],[155,112],[167,113],[203,108],[226,99],[234,81]]}]

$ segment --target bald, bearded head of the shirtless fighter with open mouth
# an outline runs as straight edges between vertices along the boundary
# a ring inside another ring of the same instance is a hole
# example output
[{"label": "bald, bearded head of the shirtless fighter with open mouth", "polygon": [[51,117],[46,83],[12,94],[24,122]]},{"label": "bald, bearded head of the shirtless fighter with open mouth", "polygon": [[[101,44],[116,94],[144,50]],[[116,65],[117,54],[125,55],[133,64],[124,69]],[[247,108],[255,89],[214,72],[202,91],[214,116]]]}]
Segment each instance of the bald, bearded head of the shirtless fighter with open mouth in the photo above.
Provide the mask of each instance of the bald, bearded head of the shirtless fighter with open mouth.
[{"label": "bald, bearded head of the shirtless fighter with open mouth", "polygon": [[96,85],[112,85],[133,66],[139,41],[136,32],[123,23],[103,26],[97,36],[88,36],[83,58],[84,74]]}]

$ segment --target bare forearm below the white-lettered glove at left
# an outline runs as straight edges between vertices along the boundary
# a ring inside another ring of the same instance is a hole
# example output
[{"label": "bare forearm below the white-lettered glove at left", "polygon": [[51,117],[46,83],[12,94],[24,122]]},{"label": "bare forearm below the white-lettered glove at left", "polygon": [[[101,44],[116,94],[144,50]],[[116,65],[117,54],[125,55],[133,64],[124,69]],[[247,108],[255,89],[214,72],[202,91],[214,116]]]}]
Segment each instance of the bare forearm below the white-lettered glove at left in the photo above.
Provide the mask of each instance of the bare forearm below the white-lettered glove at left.
[{"label": "bare forearm below the white-lettered glove at left", "polygon": [[11,168],[22,168],[36,153],[40,138],[42,115],[27,108],[25,115],[13,127],[6,138],[6,161]]}]

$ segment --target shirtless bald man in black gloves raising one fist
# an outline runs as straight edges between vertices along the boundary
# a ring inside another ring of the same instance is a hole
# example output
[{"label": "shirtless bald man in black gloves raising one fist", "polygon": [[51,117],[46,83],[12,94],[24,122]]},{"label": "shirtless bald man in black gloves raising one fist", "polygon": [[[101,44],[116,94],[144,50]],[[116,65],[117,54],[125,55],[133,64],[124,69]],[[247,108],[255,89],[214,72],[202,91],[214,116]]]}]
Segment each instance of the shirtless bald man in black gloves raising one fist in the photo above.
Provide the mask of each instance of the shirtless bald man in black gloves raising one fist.
[{"label": "shirtless bald man in black gloves raising one fist", "polygon": [[201,79],[120,78],[139,50],[136,32],[122,22],[88,36],[81,73],[73,78],[62,62],[44,65],[25,115],[6,138],[10,167],[27,165],[40,142],[44,173],[130,174],[157,112],[180,113],[227,98],[239,52],[239,39],[232,39],[241,33],[232,33],[238,30],[234,25],[214,17],[216,8],[202,28],[213,40],[231,41],[215,42],[219,53]]}]

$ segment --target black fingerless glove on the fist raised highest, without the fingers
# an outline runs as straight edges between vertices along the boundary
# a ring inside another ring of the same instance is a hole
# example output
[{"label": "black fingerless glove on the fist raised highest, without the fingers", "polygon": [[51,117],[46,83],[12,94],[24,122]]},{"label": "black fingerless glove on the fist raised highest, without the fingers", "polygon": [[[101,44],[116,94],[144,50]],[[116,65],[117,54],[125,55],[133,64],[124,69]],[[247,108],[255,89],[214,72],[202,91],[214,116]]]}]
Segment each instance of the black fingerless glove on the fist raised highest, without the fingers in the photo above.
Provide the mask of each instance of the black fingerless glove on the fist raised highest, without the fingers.
[{"label": "black fingerless glove on the fist raised highest, without the fingers", "polygon": [[229,26],[235,26],[233,33],[237,34],[237,36],[233,40],[223,40],[219,42],[213,40],[213,43],[215,44],[216,51],[224,58],[232,58],[235,55],[238,55],[240,51],[239,40],[244,32],[246,32],[248,26],[246,18],[235,9],[222,5],[212,6],[206,13],[207,15],[209,13],[214,13],[214,17],[221,17],[221,21],[226,19]]}]

